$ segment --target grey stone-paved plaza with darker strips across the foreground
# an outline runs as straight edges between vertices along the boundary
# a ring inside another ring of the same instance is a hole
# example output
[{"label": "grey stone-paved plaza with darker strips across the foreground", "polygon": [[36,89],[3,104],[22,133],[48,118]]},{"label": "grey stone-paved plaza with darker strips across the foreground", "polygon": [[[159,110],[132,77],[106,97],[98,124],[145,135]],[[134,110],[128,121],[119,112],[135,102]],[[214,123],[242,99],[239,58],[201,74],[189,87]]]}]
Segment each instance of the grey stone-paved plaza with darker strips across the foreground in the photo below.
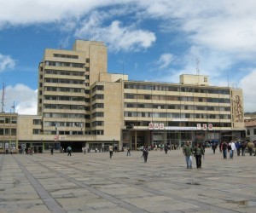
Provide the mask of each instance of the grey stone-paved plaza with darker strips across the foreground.
[{"label": "grey stone-paved plaza with darker strips across the foreground", "polygon": [[207,149],[202,169],[181,150],[0,155],[0,212],[256,212],[256,157]]}]

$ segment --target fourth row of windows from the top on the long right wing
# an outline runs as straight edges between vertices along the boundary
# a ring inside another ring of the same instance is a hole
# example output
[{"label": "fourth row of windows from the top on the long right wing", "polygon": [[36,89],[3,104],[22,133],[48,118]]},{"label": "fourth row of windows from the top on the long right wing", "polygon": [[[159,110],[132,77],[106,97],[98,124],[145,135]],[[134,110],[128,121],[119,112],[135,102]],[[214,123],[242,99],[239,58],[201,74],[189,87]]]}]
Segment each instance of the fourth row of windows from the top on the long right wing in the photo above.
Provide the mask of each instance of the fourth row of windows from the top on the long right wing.
[{"label": "fourth row of windows from the top on the long right wing", "polygon": [[125,117],[142,118],[196,118],[196,119],[231,119],[225,114],[174,113],[174,112],[125,112]]}]

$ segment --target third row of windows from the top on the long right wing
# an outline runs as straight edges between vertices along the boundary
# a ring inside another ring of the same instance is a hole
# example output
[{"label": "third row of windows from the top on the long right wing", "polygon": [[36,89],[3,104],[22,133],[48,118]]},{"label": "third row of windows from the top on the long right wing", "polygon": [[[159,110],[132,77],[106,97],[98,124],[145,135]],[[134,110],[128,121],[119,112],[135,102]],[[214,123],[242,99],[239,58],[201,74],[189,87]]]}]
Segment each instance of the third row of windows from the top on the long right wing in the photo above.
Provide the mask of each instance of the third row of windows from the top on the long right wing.
[{"label": "third row of windows from the top on the long right wing", "polygon": [[127,108],[153,108],[153,109],[177,109],[177,110],[201,110],[201,111],[226,111],[230,112],[230,107],[211,107],[211,106],[194,106],[194,105],[171,105],[171,104],[142,104],[142,103],[125,103]]}]

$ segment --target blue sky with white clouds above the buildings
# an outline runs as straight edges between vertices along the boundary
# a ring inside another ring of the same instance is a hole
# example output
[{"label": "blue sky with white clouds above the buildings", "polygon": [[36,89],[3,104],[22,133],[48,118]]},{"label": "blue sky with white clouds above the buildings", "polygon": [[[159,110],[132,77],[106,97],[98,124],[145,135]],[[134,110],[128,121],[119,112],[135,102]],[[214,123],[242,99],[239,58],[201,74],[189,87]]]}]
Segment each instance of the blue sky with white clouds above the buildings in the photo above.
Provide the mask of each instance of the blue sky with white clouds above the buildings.
[{"label": "blue sky with white clouds above the buildings", "polygon": [[108,72],[164,83],[207,75],[243,89],[244,112],[256,112],[255,9],[254,0],[0,0],[1,107],[37,114],[44,49],[83,39],[105,43]]}]

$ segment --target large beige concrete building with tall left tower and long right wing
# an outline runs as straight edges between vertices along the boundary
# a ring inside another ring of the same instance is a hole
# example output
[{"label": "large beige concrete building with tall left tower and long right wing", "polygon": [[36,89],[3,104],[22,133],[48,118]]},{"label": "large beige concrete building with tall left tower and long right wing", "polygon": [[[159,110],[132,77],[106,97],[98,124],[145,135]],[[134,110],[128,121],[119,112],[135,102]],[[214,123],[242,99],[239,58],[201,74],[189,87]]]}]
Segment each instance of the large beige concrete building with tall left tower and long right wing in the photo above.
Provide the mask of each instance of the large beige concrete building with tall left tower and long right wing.
[{"label": "large beige concrete building with tall left tower and long right wing", "polygon": [[241,139],[243,96],[202,75],[181,75],[179,83],[129,81],[108,73],[104,43],[77,40],[72,50],[45,49],[38,115],[19,115],[17,128],[19,145],[38,152]]}]

